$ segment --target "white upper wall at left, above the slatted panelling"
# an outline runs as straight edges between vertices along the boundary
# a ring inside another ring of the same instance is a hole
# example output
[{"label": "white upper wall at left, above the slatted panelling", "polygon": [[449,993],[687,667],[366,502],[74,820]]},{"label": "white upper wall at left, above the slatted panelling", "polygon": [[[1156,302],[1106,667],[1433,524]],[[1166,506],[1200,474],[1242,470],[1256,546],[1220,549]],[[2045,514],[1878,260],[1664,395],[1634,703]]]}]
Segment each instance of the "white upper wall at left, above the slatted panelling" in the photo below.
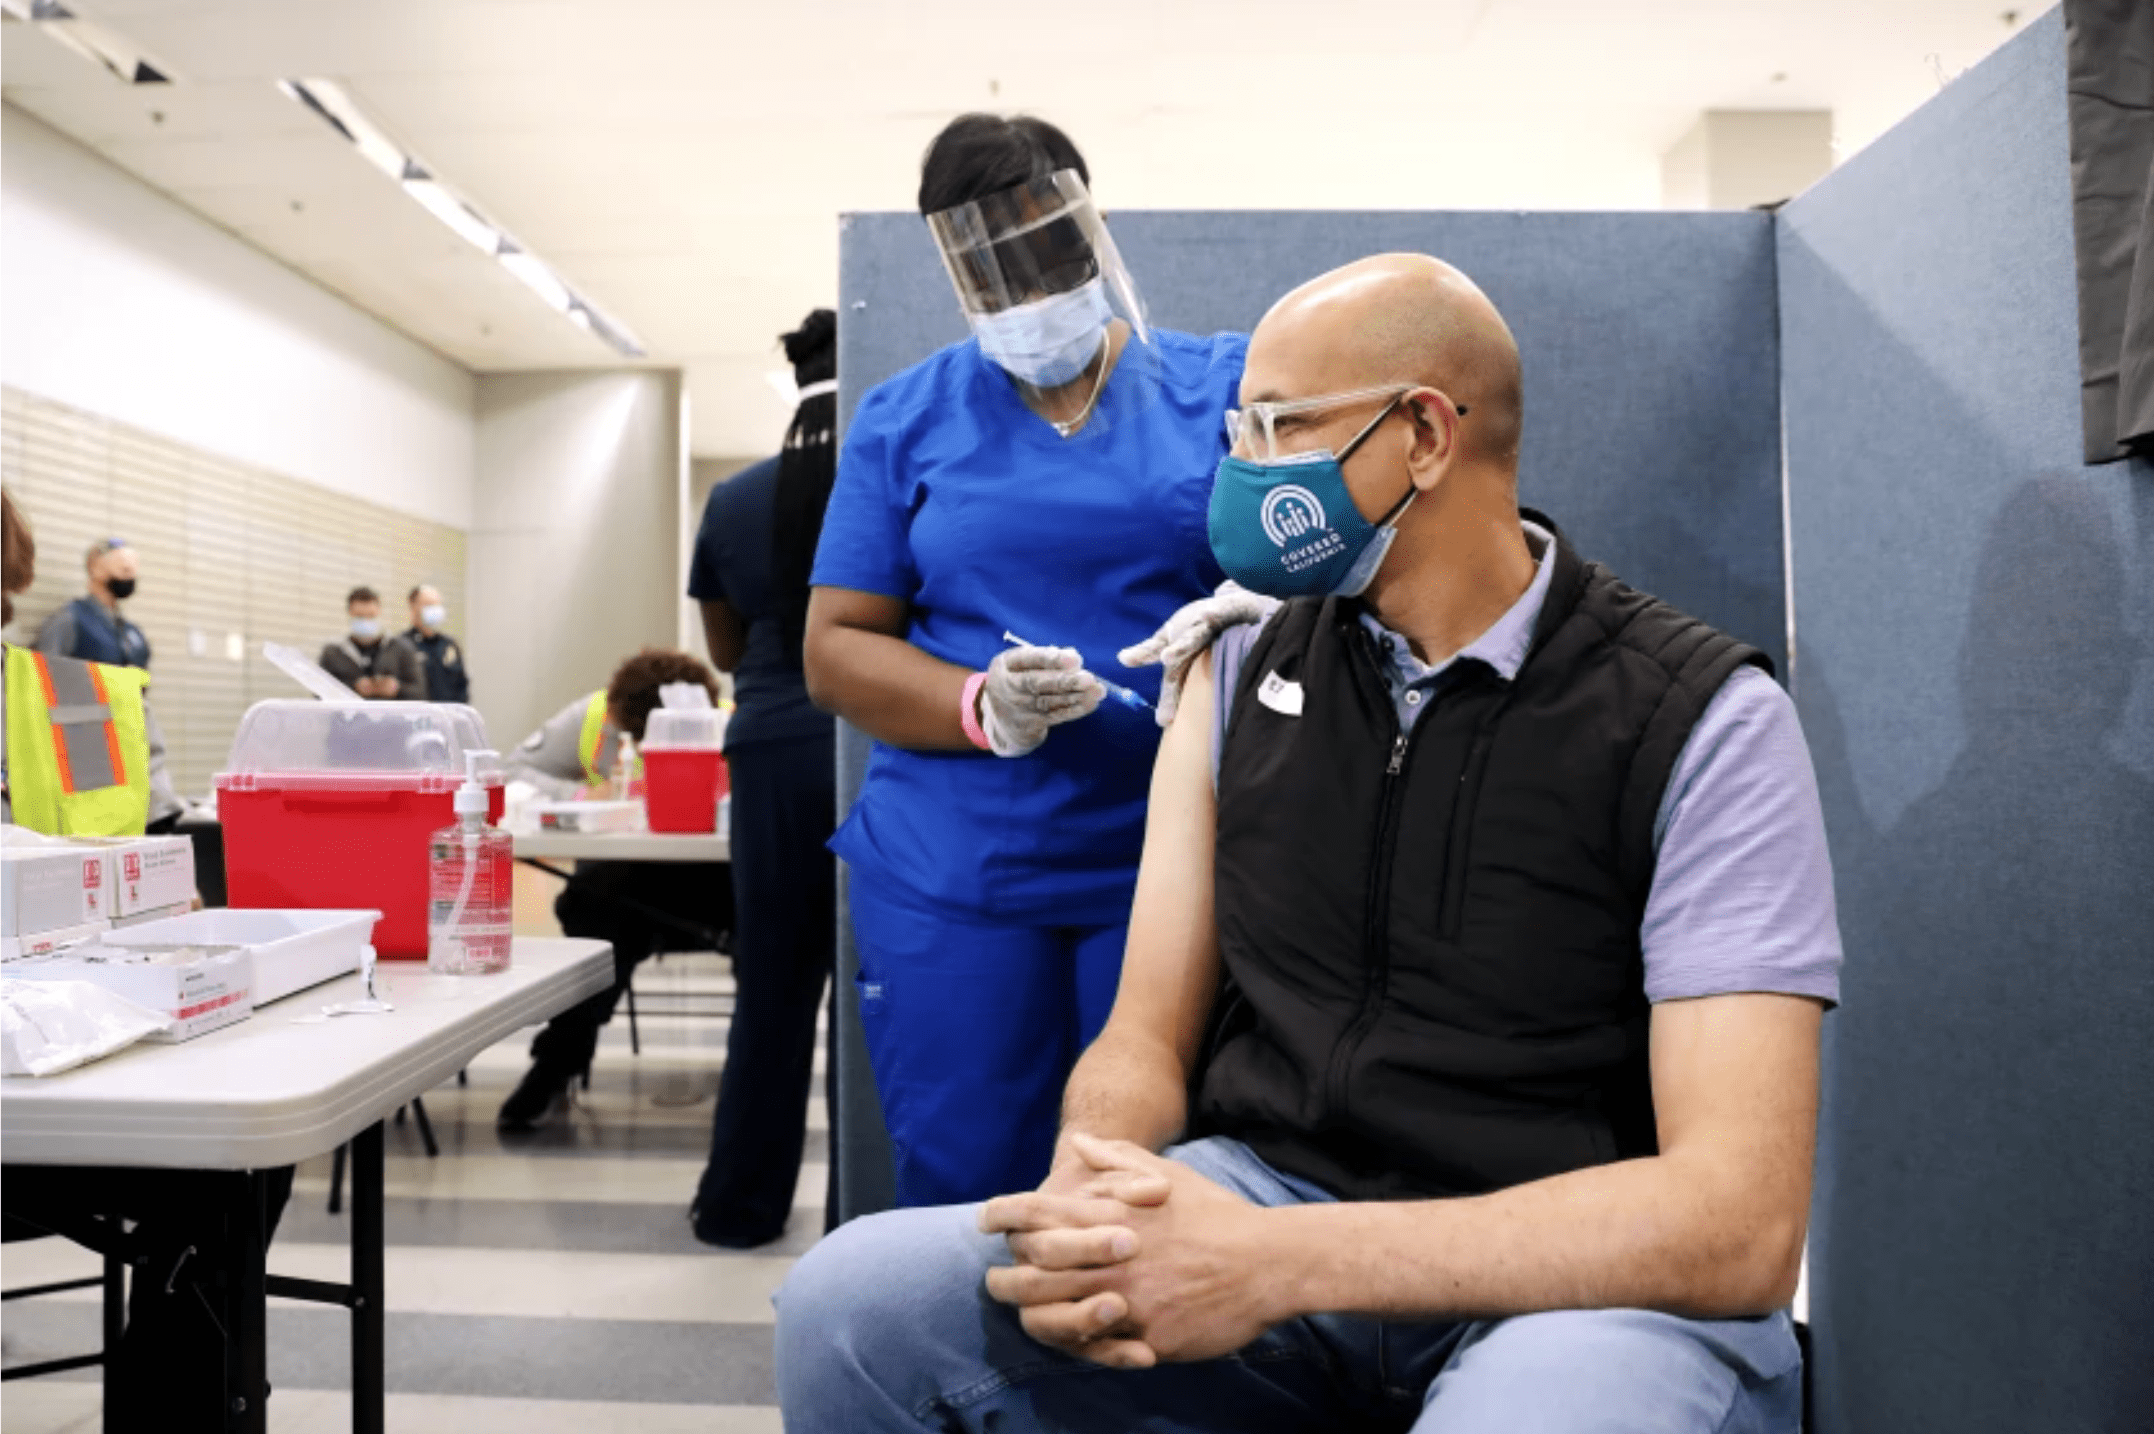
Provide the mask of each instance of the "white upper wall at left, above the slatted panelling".
[{"label": "white upper wall at left, above the slatted panelling", "polygon": [[452,528],[474,379],[15,106],[0,379]]}]

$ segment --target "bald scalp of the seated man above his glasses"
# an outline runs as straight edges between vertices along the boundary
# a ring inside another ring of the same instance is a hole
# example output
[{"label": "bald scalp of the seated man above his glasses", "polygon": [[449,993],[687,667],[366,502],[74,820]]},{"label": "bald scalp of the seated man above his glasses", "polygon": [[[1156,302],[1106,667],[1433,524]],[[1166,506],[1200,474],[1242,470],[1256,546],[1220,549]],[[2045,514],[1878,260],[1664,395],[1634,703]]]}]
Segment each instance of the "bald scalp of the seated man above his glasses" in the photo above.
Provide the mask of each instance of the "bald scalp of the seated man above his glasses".
[{"label": "bald scalp of the seated man above his glasses", "polygon": [[[1428,383],[1469,411],[1467,454],[1516,465],[1519,345],[1473,280],[1428,254],[1376,254],[1320,273],[1249,336],[1247,398]],[[1273,392],[1264,392],[1273,390]]]}]

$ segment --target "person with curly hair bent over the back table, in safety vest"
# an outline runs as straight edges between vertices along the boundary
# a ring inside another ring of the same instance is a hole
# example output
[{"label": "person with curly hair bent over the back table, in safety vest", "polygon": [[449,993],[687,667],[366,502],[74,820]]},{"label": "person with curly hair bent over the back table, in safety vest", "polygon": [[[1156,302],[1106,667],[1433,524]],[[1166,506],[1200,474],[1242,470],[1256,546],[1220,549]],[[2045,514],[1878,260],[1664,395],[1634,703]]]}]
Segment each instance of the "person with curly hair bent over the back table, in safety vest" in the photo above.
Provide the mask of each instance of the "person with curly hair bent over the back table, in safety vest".
[{"label": "person with curly hair bent over the back table, in safety vest", "polygon": [[[614,670],[599,691],[554,713],[504,762],[510,782],[530,782],[554,799],[603,797],[620,739],[644,739],[668,683],[696,683],[717,700],[717,674],[672,648],[644,648]],[[614,1018],[638,962],[666,943],[694,950],[732,928],[732,883],[724,861],[577,861],[554,898],[569,937],[614,945],[614,984],[554,1016],[532,1040],[532,1068],[502,1102],[502,1130],[538,1128],[567,1107],[569,1083],[590,1068],[599,1027]]]}]

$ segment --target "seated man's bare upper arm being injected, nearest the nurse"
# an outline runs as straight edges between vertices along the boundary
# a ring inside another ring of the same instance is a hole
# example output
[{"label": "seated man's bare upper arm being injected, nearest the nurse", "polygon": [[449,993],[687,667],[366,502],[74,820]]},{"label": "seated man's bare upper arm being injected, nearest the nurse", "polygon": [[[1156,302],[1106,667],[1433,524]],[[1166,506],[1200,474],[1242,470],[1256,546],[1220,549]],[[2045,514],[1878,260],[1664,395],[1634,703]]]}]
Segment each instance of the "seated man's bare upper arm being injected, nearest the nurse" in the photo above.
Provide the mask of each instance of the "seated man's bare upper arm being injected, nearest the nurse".
[{"label": "seated man's bare upper arm being injected, nearest the nurse", "polygon": [[1129,952],[1107,1029],[1172,1046],[1187,1072],[1219,993],[1213,924],[1213,661],[1202,655],[1159,743]]}]

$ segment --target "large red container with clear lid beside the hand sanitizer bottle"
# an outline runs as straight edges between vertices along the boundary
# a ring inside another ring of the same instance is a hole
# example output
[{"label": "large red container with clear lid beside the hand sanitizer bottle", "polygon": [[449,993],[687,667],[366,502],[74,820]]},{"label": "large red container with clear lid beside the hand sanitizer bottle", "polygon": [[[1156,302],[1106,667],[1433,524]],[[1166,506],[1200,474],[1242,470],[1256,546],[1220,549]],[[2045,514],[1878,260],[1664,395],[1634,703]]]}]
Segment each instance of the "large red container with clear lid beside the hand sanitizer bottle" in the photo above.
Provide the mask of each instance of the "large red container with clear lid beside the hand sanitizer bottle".
[{"label": "large red container with clear lid beside the hand sanitizer bottle", "polygon": [[[256,702],[239,721],[218,818],[233,906],[381,911],[386,958],[426,956],[429,838],[457,820],[485,723],[452,702]],[[485,775],[502,816],[502,775]]]}]

